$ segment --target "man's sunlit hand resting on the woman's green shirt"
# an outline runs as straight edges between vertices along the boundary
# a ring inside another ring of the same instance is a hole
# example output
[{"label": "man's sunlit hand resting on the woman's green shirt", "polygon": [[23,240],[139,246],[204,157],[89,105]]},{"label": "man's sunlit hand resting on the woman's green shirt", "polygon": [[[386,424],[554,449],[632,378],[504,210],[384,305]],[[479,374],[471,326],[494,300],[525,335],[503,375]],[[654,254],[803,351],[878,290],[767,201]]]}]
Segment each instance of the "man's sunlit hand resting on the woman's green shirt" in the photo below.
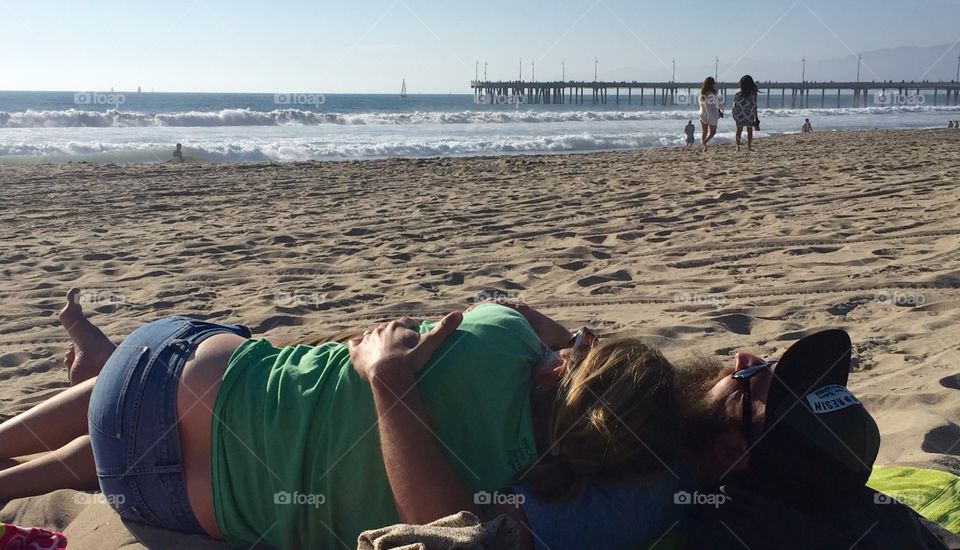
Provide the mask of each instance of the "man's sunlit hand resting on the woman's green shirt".
[{"label": "man's sunlit hand resting on the woman's green shirt", "polygon": [[415,330],[419,324],[406,317],[381,324],[348,343],[353,368],[367,382],[385,372],[402,371],[412,375],[427,364],[462,320],[463,315],[455,311],[422,336]]}]

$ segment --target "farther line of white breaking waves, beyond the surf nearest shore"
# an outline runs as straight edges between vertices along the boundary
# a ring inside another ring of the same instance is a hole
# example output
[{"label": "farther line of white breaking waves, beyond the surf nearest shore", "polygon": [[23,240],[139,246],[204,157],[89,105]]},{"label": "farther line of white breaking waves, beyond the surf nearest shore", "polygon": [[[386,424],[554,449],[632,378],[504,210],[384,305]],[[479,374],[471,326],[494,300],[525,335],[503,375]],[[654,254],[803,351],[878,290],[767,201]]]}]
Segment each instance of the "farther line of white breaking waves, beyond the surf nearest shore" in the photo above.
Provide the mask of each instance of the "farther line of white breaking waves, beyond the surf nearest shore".
[{"label": "farther line of white breaking waves, beyond the surf nearest shore", "polygon": [[[866,108],[765,109],[761,117],[887,115],[933,111],[958,111],[946,106],[893,106]],[[556,122],[617,122],[645,120],[682,120],[696,116],[695,108],[671,110],[464,110],[327,113],[301,109],[222,109],[219,111],[186,111],[177,113],[145,113],[111,109],[87,111],[0,111],[0,128],[148,128],[148,127],[218,127],[218,126],[318,126],[336,125],[410,125],[410,124],[514,124]]]}]

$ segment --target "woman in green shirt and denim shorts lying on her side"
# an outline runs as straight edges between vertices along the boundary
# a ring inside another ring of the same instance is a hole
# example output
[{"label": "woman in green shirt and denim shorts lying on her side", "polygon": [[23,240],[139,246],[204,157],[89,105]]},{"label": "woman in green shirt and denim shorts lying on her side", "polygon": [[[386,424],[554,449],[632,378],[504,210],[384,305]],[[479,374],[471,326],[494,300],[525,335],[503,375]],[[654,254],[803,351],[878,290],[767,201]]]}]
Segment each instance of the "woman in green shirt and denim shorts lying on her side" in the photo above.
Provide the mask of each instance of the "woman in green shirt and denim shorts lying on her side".
[{"label": "woman in green shirt and denim shorts lying on her side", "polygon": [[[99,488],[126,520],[234,546],[352,548],[360,532],[508,513],[528,548],[637,547],[680,519],[674,367],[526,305],[278,347],[161,319],[115,346],[77,290],[74,386],[0,425],[0,500]],[[487,505],[493,505],[491,507]]]}]

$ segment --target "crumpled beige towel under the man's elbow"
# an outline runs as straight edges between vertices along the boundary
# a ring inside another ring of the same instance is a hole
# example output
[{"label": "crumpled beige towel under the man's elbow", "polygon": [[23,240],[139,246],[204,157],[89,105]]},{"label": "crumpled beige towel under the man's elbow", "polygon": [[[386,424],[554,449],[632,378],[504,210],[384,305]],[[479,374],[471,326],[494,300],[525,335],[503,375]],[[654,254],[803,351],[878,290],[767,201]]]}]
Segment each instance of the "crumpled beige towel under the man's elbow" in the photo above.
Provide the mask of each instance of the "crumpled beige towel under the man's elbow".
[{"label": "crumpled beige towel under the man's elbow", "polygon": [[520,543],[520,527],[510,516],[481,522],[460,512],[427,525],[392,525],[364,531],[357,550],[509,550]]}]

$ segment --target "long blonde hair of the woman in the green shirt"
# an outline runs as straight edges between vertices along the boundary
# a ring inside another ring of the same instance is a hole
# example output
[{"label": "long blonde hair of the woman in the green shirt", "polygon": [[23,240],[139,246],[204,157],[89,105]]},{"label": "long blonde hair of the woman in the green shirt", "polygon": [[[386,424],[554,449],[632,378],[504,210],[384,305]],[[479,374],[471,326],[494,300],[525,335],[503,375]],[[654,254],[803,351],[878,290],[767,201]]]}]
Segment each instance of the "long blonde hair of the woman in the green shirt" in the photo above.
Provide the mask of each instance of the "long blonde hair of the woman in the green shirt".
[{"label": "long blonde hair of the woman in the green shirt", "polygon": [[626,481],[676,455],[676,373],[638,339],[602,342],[560,381],[547,453],[523,477],[541,498],[576,497],[594,481]]}]

